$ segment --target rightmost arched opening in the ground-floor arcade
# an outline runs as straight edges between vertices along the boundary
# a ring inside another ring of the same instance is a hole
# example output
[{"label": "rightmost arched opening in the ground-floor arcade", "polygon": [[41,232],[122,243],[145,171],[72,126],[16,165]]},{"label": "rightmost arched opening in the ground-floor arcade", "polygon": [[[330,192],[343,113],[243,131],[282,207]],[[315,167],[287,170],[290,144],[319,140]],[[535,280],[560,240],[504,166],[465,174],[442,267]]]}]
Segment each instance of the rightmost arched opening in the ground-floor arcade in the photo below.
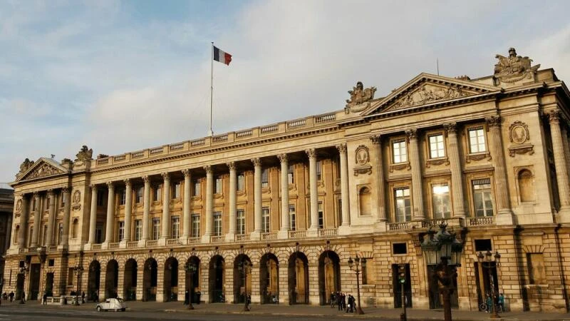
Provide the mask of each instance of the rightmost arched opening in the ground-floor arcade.
[{"label": "rightmost arched opening in the ground-floor arcade", "polygon": [[341,291],[341,260],[331,250],[318,258],[318,297],[321,305],[329,304],[331,293]]}]

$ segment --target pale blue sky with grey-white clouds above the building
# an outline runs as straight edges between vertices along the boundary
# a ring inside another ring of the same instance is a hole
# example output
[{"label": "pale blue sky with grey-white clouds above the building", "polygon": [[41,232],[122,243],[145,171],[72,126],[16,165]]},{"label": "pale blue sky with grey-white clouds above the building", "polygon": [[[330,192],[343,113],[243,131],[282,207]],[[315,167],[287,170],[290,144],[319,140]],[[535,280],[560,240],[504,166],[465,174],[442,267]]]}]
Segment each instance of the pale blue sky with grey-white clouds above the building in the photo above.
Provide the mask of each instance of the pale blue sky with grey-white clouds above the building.
[{"label": "pale blue sky with grey-white clouds above the building", "polygon": [[509,47],[570,81],[569,1],[0,1],[0,182],[24,158],[119,154],[340,110]]}]

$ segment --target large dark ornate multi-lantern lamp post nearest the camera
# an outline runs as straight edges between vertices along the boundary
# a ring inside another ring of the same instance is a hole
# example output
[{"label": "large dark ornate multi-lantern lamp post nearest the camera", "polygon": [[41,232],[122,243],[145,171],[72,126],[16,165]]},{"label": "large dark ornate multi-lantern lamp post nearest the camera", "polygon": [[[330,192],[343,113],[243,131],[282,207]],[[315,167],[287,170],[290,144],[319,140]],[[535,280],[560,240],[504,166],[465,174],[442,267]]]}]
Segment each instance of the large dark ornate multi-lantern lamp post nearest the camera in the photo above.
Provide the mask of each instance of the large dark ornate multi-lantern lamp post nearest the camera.
[{"label": "large dark ornate multi-lantern lamp post nearest the camera", "polygon": [[454,280],[457,267],[461,266],[463,244],[445,230],[447,224],[440,224],[440,231],[435,233],[430,228],[429,237],[425,238],[421,247],[428,265],[437,265],[432,277],[437,280],[437,287],[443,294],[443,317],[451,321],[451,294],[455,290]]}]

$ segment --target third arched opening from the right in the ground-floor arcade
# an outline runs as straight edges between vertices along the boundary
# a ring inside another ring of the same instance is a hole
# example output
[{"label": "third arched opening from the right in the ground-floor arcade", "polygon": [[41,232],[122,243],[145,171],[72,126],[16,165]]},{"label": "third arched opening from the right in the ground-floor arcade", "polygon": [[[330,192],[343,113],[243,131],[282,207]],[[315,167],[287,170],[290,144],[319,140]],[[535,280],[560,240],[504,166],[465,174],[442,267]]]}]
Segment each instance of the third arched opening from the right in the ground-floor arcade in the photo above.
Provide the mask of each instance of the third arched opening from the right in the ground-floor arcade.
[{"label": "third arched opening from the right in the ground-floor arcade", "polygon": [[273,253],[261,257],[259,263],[259,289],[261,304],[279,300],[279,260]]}]

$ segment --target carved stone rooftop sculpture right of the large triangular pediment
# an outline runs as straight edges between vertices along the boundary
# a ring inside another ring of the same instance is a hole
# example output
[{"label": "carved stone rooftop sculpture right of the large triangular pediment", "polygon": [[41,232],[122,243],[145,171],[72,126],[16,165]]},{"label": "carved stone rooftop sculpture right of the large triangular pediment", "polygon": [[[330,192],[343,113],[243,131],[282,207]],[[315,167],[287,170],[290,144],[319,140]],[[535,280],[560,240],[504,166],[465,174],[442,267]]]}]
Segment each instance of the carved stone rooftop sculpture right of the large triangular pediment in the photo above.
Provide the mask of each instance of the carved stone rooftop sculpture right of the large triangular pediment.
[{"label": "carved stone rooftop sculpture right of the large triangular pediment", "polygon": [[514,48],[509,49],[508,57],[497,54],[495,58],[499,59],[499,62],[494,65],[494,77],[505,83],[514,83],[524,78],[532,79],[540,68],[540,64],[531,66],[531,58],[517,56]]}]

